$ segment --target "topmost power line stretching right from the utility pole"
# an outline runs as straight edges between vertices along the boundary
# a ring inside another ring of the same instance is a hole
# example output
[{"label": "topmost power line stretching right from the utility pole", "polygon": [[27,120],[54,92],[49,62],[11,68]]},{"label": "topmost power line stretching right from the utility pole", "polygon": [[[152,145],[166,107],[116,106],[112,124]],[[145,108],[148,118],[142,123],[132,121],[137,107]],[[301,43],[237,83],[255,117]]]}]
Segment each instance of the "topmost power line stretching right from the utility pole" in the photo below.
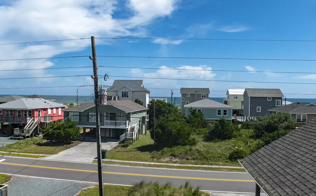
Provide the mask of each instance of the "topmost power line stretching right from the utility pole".
[{"label": "topmost power line stretching right from the utility pole", "polygon": [[197,39],[197,38],[137,38],[137,37],[97,37],[102,39],[135,39],[135,40],[218,40],[218,41],[312,41],[316,40],[255,40],[255,39]]}]

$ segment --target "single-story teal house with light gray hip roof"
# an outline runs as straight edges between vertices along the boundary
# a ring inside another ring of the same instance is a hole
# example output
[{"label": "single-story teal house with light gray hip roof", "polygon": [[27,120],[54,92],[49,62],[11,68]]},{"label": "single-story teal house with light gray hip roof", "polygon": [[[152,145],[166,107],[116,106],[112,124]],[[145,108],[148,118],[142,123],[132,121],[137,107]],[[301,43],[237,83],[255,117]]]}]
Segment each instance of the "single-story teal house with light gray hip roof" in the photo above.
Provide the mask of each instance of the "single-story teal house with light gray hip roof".
[{"label": "single-story teal house with light gray hip roof", "polygon": [[234,107],[211,99],[201,99],[190,104],[185,104],[184,108],[186,117],[190,114],[189,109],[193,108],[197,109],[198,112],[203,112],[206,120],[217,120],[224,117],[227,121],[231,122]]}]

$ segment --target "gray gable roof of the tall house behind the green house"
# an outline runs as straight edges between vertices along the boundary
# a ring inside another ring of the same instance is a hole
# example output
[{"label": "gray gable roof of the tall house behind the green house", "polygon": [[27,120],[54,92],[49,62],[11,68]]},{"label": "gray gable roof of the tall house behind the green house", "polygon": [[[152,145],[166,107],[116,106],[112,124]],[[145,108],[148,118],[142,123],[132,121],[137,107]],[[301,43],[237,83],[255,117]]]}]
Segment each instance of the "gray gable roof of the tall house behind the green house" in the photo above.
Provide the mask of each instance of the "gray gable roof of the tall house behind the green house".
[{"label": "gray gable roof of the tall house behind the green house", "polygon": [[143,80],[114,80],[113,85],[108,87],[108,91],[118,91],[123,87],[128,87],[131,91],[148,91],[147,88],[144,87]]}]

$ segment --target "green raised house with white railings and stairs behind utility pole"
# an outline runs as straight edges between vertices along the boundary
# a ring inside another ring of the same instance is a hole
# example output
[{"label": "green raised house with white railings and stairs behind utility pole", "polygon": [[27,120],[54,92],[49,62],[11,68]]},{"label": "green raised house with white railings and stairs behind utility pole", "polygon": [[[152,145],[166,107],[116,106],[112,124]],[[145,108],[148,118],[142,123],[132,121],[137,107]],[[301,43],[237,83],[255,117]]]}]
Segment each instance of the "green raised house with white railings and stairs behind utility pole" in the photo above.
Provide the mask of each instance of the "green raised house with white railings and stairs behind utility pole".
[{"label": "green raised house with white railings and stairs behind utility pole", "polygon": [[[120,142],[133,140],[139,132],[147,130],[147,110],[131,100],[107,101],[100,105],[100,134],[103,138],[115,138]],[[64,119],[70,117],[77,127],[95,128],[94,103],[79,104],[63,110]]]}]

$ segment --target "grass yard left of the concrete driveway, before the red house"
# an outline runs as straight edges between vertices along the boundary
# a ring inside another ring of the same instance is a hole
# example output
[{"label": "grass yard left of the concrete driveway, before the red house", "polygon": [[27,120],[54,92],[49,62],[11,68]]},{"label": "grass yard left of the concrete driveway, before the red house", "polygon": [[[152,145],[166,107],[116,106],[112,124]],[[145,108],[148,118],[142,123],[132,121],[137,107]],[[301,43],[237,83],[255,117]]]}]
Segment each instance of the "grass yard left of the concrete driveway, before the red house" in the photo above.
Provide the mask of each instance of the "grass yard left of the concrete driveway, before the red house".
[{"label": "grass yard left of the concrete driveway, before the red house", "polygon": [[0,151],[6,151],[10,152],[15,149],[21,148],[23,145],[27,144],[28,142],[33,141],[32,143],[24,146],[21,149],[18,149],[14,151],[15,153],[30,153],[30,154],[49,154],[49,155],[55,155],[59,152],[66,150],[68,148],[71,148],[73,146],[76,146],[77,144],[81,143],[78,141],[71,142],[69,145],[52,145],[52,144],[46,144],[45,139],[39,138],[35,140],[36,137],[33,137],[31,139],[25,139],[25,140],[19,140],[15,143],[8,144],[6,146],[2,146],[0,148]]}]

